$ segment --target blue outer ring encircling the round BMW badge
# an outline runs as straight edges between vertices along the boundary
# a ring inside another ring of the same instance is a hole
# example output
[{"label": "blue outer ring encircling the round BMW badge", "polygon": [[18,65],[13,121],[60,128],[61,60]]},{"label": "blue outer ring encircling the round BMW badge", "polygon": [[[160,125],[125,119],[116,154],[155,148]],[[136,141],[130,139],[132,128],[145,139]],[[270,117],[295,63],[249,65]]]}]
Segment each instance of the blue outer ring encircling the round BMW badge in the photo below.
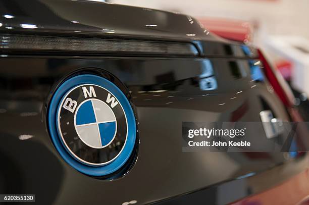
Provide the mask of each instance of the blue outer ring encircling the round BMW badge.
[{"label": "blue outer ring encircling the round BMW badge", "polygon": [[[115,95],[122,105],[123,110],[127,117],[128,123],[128,135],[125,147],[123,148],[120,155],[110,164],[103,166],[89,166],[82,164],[77,159],[74,159],[73,156],[69,153],[68,150],[64,147],[61,141],[61,137],[58,132],[57,126],[57,113],[60,106],[61,100],[64,95],[73,87],[81,84],[94,84],[108,89],[113,95]],[[96,76],[92,74],[83,74],[74,76],[66,80],[54,93],[52,100],[50,101],[48,108],[48,128],[50,136],[55,144],[57,150],[59,151],[61,157],[74,169],[77,171],[91,175],[91,176],[105,176],[112,174],[119,170],[130,158],[131,153],[134,149],[135,140],[136,140],[136,124],[135,117],[132,110],[132,107],[129,103],[129,100],[124,95],[124,93],[111,81]]]}]

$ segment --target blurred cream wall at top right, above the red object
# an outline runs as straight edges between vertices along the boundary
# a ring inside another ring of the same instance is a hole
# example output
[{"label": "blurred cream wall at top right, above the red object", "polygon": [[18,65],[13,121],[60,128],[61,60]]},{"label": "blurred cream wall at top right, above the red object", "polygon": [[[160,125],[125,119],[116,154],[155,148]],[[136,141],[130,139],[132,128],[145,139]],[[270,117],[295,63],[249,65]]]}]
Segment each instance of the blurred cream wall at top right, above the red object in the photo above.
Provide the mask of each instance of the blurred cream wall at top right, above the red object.
[{"label": "blurred cream wall at top right, above the red object", "polygon": [[111,0],[110,2],[178,11],[193,17],[220,17],[258,22],[259,33],[255,33],[258,42],[264,35],[299,35],[309,39],[308,0]]}]

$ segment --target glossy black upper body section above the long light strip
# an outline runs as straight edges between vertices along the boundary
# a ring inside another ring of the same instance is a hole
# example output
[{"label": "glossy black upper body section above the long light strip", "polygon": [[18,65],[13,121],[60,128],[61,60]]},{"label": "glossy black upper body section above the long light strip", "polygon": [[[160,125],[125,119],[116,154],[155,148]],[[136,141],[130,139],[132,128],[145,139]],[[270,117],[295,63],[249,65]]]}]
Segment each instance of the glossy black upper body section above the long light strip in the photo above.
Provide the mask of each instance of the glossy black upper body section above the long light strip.
[{"label": "glossy black upper body section above the long light strip", "polygon": [[239,43],[178,13],[89,1],[2,0],[0,15],[2,33],[191,42],[201,56],[246,56]]}]

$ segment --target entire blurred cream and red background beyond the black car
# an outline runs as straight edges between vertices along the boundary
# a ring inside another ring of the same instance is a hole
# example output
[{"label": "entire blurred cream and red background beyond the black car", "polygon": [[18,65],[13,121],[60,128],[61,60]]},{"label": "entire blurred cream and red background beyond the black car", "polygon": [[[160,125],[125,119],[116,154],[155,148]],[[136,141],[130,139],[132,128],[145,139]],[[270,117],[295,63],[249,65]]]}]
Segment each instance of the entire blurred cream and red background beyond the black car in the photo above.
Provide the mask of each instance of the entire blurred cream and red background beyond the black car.
[{"label": "entire blurred cream and red background beyond the black car", "polygon": [[[221,37],[263,48],[274,66],[291,85],[296,97],[295,104],[308,104],[308,0],[109,0],[108,2],[187,14],[198,19],[206,29]],[[305,107],[309,108],[308,105]]]}]

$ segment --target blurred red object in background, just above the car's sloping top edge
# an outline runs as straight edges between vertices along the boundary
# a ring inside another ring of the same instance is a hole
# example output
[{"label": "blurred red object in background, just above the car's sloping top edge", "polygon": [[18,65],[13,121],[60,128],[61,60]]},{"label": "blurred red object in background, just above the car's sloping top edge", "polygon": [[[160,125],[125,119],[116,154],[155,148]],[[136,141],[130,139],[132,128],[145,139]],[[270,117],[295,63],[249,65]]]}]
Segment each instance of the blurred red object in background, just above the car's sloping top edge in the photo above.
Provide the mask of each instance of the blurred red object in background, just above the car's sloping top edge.
[{"label": "blurred red object in background, just above the car's sloping top edge", "polygon": [[197,18],[209,31],[230,40],[244,43],[252,40],[253,26],[247,21],[222,18]]}]

